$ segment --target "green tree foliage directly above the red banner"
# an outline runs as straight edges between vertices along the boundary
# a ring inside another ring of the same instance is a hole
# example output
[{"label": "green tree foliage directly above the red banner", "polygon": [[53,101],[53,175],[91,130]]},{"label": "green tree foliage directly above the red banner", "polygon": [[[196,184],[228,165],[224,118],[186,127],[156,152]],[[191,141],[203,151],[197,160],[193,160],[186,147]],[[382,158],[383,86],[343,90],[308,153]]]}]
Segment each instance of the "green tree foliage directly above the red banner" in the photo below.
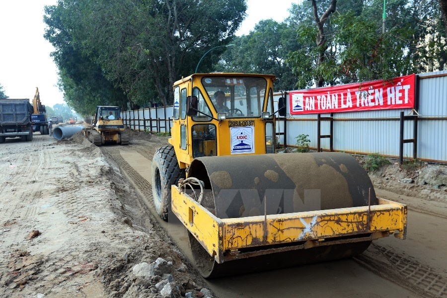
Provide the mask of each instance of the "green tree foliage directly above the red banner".
[{"label": "green tree foliage directly above the red banner", "polygon": [[[319,2],[320,6],[310,7],[304,1],[294,11],[297,15],[312,15],[315,8],[321,9],[332,1]],[[289,53],[288,62],[298,76],[298,88],[444,69],[446,46],[439,30],[439,6],[432,5],[434,0],[422,2],[387,1],[385,33],[382,10],[377,9],[383,6],[381,0],[354,1],[349,7],[337,7],[323,30],[315,25],[317,19],[310,22],[309,17],[303,17],[303,21],[297,21],[297,37],[303,47]],[[326,42],[318,45],[321,35]]]}]

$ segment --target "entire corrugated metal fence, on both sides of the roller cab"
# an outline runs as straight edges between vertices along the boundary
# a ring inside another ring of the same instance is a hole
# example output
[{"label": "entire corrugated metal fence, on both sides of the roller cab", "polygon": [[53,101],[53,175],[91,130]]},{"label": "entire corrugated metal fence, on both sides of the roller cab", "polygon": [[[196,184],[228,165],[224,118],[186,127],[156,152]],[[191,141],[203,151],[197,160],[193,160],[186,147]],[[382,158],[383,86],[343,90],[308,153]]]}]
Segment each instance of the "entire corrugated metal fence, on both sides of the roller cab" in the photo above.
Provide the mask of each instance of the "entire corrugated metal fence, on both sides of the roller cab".
[{"label": "entire corrugated metal fence, on both sides of the roller cab", "polygon": [[[312,149],[447,163],[447,71],[416,79],[414,110],[291,115],[288,106],[287,117],[277,118],[278,141],[293,147],[304,134]],[[133,130],[170,133],[172,115],[173,107],[167,106],[126,111],[122,118]]]}]

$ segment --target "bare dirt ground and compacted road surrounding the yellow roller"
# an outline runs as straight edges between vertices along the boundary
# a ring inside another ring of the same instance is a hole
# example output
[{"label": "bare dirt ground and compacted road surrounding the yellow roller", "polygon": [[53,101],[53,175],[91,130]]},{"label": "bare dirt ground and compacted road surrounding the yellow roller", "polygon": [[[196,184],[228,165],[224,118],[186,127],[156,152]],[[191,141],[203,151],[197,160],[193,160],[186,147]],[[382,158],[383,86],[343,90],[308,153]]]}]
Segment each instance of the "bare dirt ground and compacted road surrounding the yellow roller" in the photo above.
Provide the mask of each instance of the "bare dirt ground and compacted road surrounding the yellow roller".
[{"label": "bare dirt ground and compacted road surrounding the yellow roller", "polygon": [[417,211],[428,201],[380,190],[411,203],[406,240],[379,239],[354,259],[203,280],[185,230],[150,209],[150,160],[165,142],[135,133],[127,147],[98,148],[36,134],[2,144],[0,296],[447,297],[447,208],[436,202],[428,215]]}]

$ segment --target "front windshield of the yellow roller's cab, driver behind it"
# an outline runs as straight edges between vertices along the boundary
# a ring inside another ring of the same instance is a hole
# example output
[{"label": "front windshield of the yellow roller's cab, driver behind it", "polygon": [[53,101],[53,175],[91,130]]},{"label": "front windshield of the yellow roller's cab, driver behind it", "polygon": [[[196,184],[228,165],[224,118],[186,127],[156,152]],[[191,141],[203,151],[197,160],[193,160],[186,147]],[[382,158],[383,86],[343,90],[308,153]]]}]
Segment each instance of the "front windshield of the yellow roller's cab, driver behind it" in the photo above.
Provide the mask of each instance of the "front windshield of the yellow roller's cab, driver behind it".
[{"label": "front windshield of the yellow roller's cab, driver behind it", "polygon": [[217,113],[228,118],[261,116],[267,81],[262,77],[210,76],[202,78]]}]

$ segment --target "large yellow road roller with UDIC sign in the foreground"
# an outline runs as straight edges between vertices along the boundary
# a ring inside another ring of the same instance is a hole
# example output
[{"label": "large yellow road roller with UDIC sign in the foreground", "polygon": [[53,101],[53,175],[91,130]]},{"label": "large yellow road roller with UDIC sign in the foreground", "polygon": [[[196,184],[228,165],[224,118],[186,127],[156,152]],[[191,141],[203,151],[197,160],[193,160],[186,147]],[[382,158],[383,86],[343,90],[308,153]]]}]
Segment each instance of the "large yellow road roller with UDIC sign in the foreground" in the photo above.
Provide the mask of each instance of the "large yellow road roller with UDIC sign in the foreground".
[{"label": "large yellow road roller with UDIC sign in the foreground", "polygon": [[350,154],[275,153],[276,113],[287,110],[281,97],[274,111],[275,79],[174,83],[170,145],[152,160],[153,205],[186,227],[205,278],[351,257],[374,239],[406,236],[406,205],[377,198]]}]

